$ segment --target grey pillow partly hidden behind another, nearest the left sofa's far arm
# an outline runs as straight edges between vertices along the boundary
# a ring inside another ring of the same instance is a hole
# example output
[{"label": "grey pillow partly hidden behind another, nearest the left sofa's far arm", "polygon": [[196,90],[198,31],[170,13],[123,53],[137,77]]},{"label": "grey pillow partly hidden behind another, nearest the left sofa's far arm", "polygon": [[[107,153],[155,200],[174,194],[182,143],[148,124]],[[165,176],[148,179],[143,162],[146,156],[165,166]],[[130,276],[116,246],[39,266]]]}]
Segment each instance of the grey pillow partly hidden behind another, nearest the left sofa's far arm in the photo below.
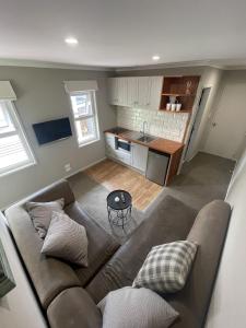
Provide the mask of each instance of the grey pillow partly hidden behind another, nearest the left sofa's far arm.
[{"label": "grey pillow partly hidden behind another, nearest the left sofa's far arm", "polygon": [[25,207],[40,238],[46,236],[52,212],[63,213],[65,199],[49,202],[26,202]]}]

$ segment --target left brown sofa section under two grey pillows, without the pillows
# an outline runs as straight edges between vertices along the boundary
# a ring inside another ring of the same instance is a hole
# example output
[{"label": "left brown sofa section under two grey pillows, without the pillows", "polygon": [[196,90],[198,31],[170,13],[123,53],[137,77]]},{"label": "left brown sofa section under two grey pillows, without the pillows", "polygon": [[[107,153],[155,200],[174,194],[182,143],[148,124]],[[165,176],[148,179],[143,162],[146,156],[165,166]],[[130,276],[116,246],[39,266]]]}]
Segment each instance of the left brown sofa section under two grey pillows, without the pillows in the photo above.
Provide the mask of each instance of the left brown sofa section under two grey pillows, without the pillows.
[{"label": "left brown sofa section under two grey pillows, without the pillows", "polygon": [[[84,225],[87,231],[90,268],[77,270],[79,277],[70,265],[40,253],[43,241],[25,210],[26,201],[46,202],[59,198],[65,199],[65,212],[67,211],[71,219]],[[47,308],[49,303],[67,288],[81,286],[82,283],[90,281],[119,247],[119,244],[74,202],[73,192],[66,180],[43,189],[35,196],[12,206],[4,213],[44,308]]]}]

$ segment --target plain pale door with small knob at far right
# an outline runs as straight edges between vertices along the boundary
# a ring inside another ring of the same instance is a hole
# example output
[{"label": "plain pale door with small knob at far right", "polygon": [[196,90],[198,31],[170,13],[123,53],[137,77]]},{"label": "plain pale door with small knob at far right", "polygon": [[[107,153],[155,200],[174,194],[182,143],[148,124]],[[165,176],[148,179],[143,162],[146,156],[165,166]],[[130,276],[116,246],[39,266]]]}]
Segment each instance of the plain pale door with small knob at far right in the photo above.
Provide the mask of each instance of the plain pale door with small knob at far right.
[{"label": "plain pale door with small knob at far right", "polygon": [[[238,160],[246,144],[246,71],[225,71],[215,112],[204,133],[203,150]],[[212,125],[215,122],[215,126]]]}]

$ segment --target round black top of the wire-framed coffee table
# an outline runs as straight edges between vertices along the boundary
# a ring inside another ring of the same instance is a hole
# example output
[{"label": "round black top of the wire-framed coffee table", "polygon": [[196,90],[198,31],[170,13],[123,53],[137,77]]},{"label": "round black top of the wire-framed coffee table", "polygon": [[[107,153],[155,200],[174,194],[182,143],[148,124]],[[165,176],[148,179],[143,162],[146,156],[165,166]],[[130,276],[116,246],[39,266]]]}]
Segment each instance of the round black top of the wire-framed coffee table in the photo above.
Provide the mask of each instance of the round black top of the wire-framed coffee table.
[{"label": "round black top of the wire-framed coffee table", "polygon": [[125,210],[131,206],[131,196],[126,190],[114,190],[107,197],[107,206],[114,210]]}]

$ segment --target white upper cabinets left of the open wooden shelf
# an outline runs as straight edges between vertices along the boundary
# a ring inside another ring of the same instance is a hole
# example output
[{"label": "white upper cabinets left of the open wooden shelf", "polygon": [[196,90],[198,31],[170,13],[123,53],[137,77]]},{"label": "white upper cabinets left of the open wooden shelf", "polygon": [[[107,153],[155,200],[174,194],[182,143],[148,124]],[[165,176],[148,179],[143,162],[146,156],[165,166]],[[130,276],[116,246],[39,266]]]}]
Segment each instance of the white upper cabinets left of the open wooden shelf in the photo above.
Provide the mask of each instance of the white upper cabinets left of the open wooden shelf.
[{"label": "white upper cabinets left of the open wooden shelf", "polygon": [[134,108],[159,109],[163,77],[110,78],[109,103]]}]

